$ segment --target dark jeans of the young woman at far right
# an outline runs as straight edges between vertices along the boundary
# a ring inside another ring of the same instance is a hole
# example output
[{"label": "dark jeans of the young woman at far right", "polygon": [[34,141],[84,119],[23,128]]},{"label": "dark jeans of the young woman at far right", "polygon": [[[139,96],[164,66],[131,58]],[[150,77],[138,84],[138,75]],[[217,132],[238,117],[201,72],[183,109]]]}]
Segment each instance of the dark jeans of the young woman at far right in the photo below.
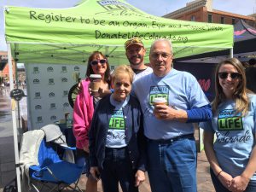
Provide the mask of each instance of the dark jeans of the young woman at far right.
[{"label": "dark jeans of the young woman at far right", "polygon": [[[230,190],[226,189],[222,183],[218,180],[218,177],[214,174],[212,169],[210,168],[210,173],[212,177],[212,183],[214,189],[217,192],[230,192]],[[247,185],[247,189],[244,192],[255,192],[256,191],[256,181],[250,181]]]}]

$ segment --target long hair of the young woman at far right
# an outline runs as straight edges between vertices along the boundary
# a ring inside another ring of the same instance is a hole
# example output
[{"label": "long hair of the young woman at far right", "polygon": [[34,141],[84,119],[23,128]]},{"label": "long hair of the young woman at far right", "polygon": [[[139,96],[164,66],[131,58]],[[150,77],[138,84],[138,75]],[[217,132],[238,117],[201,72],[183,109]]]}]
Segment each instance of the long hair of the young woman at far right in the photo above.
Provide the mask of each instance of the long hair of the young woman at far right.
[{"label": "long hair of the young woman at far right", "polygon": [[241,115],[244,116],[247,114],[248,104],[249,104],[249,98],[247,96],[247,93],[252,93],[252,91],[247,90],[247,88],[246,88],[247,79],[246,79],[244,67],[242,66],[241,62],[236,58],[230,58],[230,59],[221,61],[218,64],[218,66],[216,67],[216,70],[215,70],[215,92],[216,92],[216,95],[212,102],[212,111],[213,111],[213,113],[216,113],[218,110],[218,105],[221,102],[224,102],[224,100],[226,99],[226,96],[224,95],[224,91],[223,91],[221,85],[219,84],[218,71],[221,66],[227,65],[227,64],[235,67],[237,70],[237,73],[241,74],[239,84],[237,85],[236,90],[233,93],[233,100],[236,102],[236,112],[237,113],[241,112]]}]

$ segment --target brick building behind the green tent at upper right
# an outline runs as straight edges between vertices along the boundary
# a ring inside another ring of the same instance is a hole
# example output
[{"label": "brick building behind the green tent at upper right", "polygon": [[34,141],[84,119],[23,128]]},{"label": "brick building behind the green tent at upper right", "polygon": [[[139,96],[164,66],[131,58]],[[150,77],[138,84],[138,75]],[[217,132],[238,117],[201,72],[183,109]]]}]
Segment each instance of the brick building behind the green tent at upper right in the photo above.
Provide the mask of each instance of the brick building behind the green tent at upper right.
[{"label": "brick building behind the green tent at upper right", "polygon": [[212,0],[195,0],[186,4],[186,7],[164,15],[174,20],[189,20],[207,23],[221,23],[234,25],[237,20],[245,20],[248,25],[255,27],[255,17],[237,15],[229,12],[212,9]]}]

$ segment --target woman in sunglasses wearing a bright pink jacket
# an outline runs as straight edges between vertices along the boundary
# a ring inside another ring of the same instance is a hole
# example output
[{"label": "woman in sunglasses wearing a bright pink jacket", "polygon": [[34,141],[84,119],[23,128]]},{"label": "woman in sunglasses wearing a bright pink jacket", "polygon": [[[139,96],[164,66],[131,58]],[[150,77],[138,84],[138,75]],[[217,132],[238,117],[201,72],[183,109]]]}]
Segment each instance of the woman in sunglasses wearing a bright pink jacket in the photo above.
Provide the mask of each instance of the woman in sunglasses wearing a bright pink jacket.
[{"label": "woman in sunglasses wearing a bright pink jacket", "polygon": [[101,88],[110,89],[110,70],[108,60],[101,52],[93,52],[88,59],[86,79],[82,80],[79,87],[79,95],[76,98],[73,108],[73,133],[76,138],[77,160],[80,165],[86,162],[85,172],[87,173],[86,192],[97,191],[97,180],[90,175],[89,163],[89,130],[94,113],[94,106],[101,97],[90,95],[90,74],[100,74]]}]

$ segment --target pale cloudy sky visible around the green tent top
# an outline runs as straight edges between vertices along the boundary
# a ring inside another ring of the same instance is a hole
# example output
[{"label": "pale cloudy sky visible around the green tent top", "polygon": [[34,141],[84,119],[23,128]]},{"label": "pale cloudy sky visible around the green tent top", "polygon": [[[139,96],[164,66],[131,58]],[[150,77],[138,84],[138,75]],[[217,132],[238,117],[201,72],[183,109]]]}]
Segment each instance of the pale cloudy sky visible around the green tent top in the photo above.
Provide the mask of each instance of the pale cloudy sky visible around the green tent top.
[{"label": "pale cloudy sky visible around the green tent top", "polygon": [[[192,0],[126,0],[127,3],[144,12],[162,16],[186,6]],[[31,8],[68,8],[73,7],[80,0],[0,0],[0,50],[6,50],[3,25],[3,7],[14,5]],[[256,0],[212,0],[213,9],[227,11],[239,15],[256,13]]]}]

